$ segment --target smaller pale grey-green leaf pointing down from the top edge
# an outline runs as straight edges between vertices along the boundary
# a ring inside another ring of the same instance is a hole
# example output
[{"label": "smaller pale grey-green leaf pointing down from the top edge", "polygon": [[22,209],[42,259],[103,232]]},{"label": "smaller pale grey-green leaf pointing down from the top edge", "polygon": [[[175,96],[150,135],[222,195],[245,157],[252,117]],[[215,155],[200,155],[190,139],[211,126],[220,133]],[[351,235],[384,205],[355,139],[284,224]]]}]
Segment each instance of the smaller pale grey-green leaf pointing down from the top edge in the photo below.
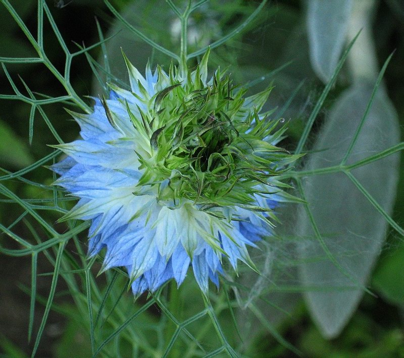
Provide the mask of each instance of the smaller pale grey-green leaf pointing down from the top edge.
[{"label": "smaller pale grey-green leaf pointing down from the top edge", "polygon": [[317,76],[327,83],[345,42],[352,0],[309,0],[307,25],[310,60]]}]

